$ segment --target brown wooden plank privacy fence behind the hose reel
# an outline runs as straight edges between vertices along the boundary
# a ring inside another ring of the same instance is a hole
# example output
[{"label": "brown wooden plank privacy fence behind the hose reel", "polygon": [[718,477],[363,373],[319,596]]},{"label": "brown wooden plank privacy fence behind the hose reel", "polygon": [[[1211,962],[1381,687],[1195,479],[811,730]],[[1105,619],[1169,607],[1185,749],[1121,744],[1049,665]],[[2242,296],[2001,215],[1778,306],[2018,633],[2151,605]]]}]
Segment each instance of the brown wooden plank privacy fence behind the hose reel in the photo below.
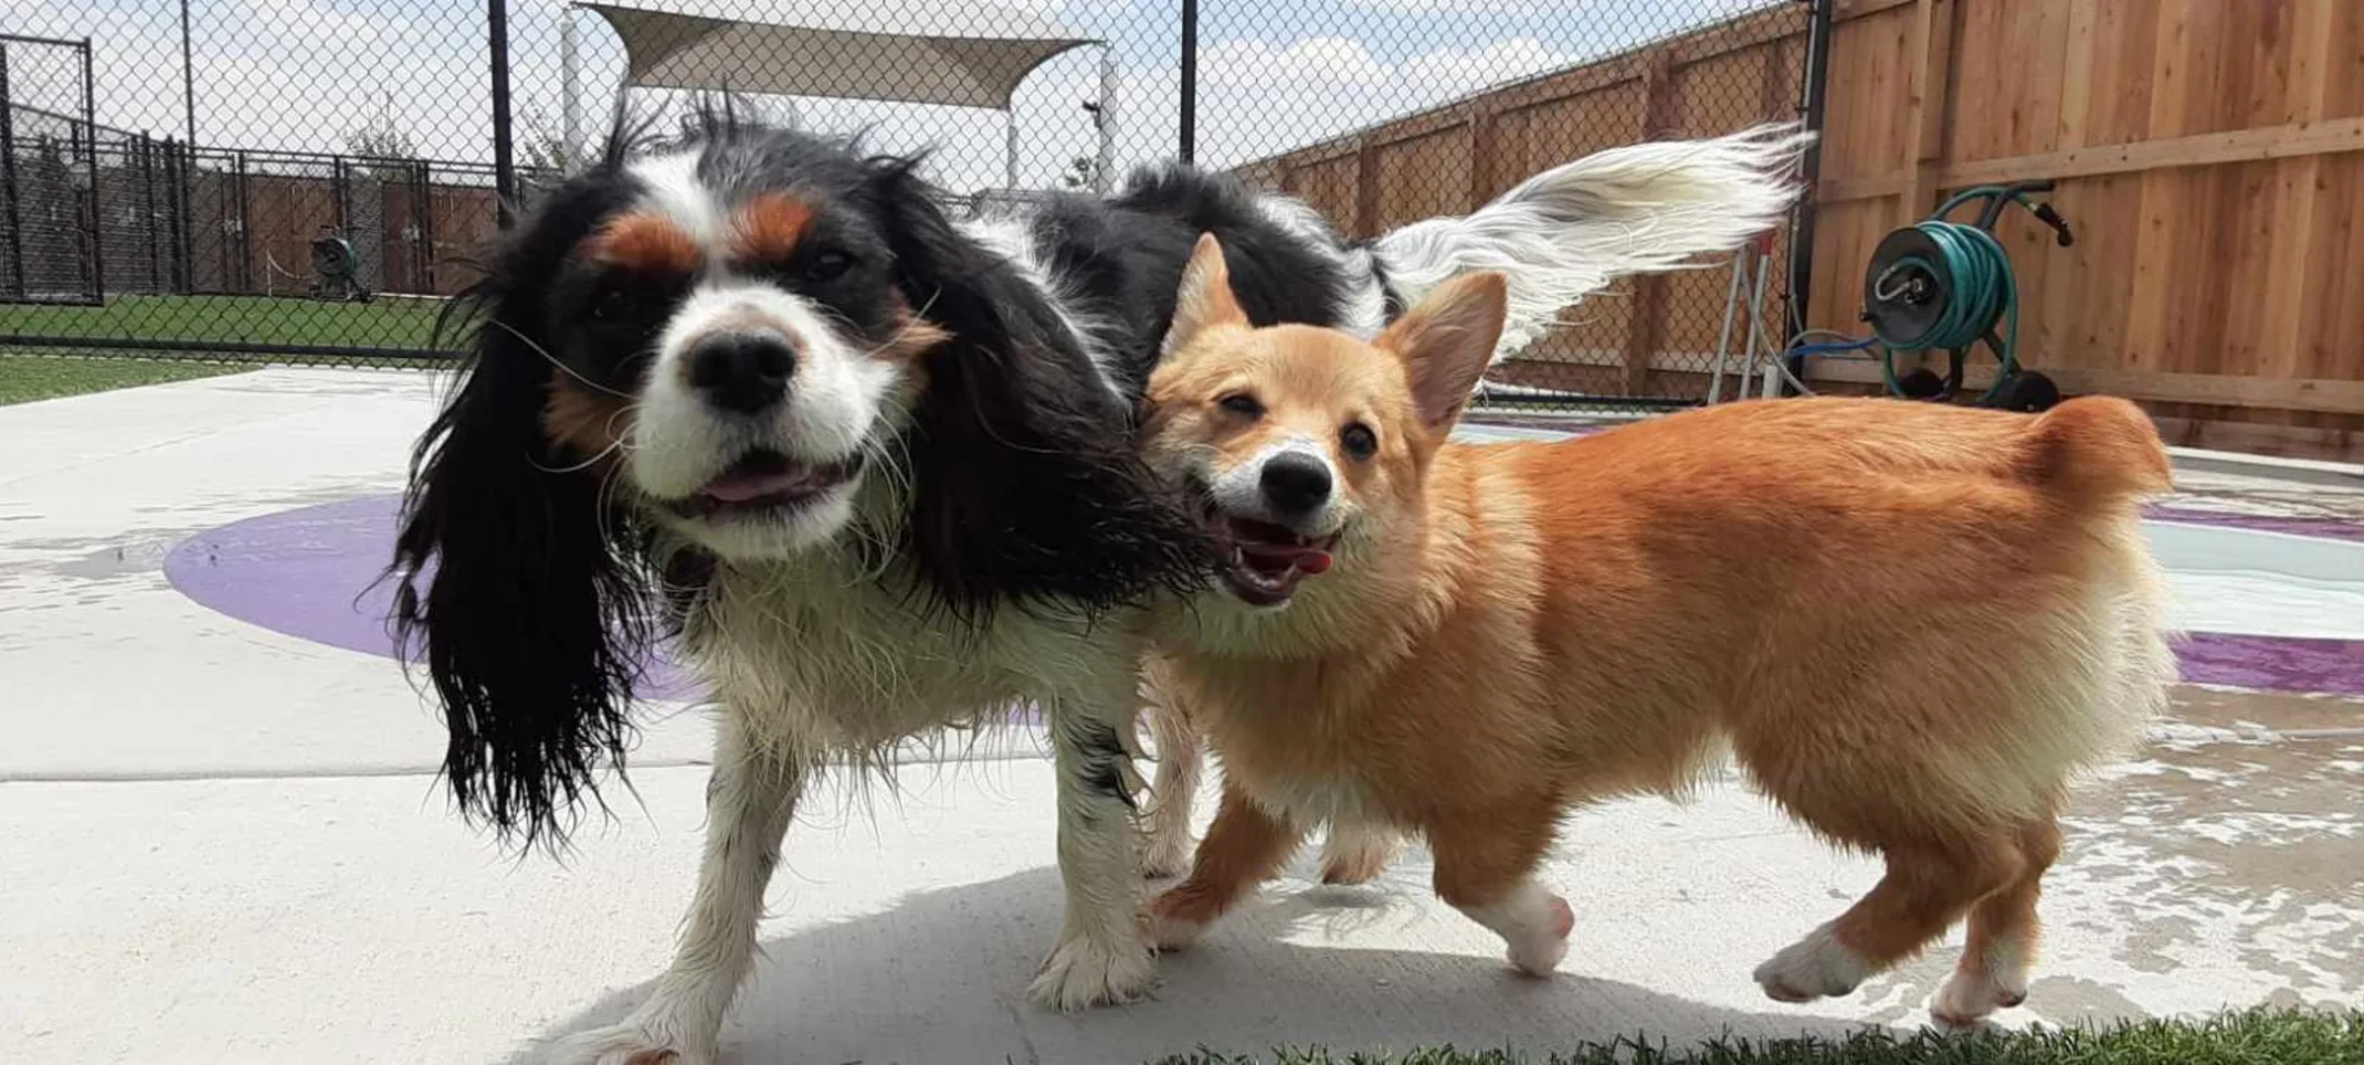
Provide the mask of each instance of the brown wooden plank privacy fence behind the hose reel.
[{"label": "brown wooden plank privacy fence behind the hose reel", "polygon": [[[1794,114],[1804,7],[1246,170],[1359,234],[1468,211],[1584,151]],[[2142,400],[2180,443],[2364,457],[2364,0],[1837,0],[1832,19],[1806,324],[1863,334],[1872,246],[1941,196],[2052,178],[2073,248],[2019,211],[2000,227],[2028,367]],[[1697,395],[1726,284],[1622,286],[1511,376]],[[1990,360],[1972,367],[1983,383]],[[1851,362],[1811,376],[1877,379]]]}]

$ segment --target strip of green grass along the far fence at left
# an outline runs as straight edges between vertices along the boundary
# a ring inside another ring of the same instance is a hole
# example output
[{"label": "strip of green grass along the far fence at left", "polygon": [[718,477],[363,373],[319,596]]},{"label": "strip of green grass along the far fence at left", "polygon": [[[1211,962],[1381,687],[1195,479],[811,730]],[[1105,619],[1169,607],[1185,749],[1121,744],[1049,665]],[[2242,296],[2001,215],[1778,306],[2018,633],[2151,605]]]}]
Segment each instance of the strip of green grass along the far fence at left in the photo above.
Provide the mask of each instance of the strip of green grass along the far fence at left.
[{"label": "strip of green grass along the far fence at left", "polygon": [[0,336],[428,348],[442,301],[324,303],[272,296],[121,296],[104,308],[0,303]]}]

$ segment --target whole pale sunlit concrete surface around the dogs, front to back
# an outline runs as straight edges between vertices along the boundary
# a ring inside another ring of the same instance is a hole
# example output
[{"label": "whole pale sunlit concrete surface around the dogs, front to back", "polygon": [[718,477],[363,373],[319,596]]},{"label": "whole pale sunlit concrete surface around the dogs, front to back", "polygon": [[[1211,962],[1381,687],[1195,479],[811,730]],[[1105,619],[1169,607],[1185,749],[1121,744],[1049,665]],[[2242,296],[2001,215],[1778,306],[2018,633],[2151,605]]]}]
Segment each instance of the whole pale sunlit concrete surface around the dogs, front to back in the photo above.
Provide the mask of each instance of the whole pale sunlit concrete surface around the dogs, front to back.
[{"label": "whole pale sunlit concrete surface around the dogs, front to back", "polygon": [[[449,816],[440,727],[383,646],[253,625],[163,573],[175,549],[239,551],[222,525],[400,490],[430,409],[430,379],[376,372],[0,407],[0,1032],[21,1053],[501,1063],[617,1015],[662,968],[697,857],[702,715],[648,708],[638,802],[617,793],[617,821],[567,861],[504,857]],[[2184,483],[2168,518],[2203,532],[2170,532],[2196,551],[2177,582],[2234,656],[2215,677],[2241,684],[2180,689],[2158,743],[2080,795],[2045,902],[2050,956],[2009,1022],[2364,989],[2364,701],[2338,696],[2364,651],[2345,585],[2307,585],[2340,577],[2364,542],[2364,492]],[[260,559],[378,551],[317,532]],[[352,573],[338,566],[288,570],[312,582],[298,587],[314,615],[359,594],[319,587]],[[2225,580],[2208,585],[2210,566]],[[839,793],[799,824],[728,1060],[1544,1051],[1912,1025],[1953,958],[1938,949],[1842,1003],[1764,1001],[1749,968],[1875,869],[1719,786],[1690,807],[1617,802],[1570,824],[1548,871],[1579,914],[1558,980],[1508,977],[1489,935],[1428,899],[1425,857],[1409,854],[1366,890],[1317,888],[1300,864],[1165,958],[1156,1001],[1047,1015],[1021,994],[1059,909],[1033,750],[1014,734],[976,760],[915,762],[901,795]]]}]

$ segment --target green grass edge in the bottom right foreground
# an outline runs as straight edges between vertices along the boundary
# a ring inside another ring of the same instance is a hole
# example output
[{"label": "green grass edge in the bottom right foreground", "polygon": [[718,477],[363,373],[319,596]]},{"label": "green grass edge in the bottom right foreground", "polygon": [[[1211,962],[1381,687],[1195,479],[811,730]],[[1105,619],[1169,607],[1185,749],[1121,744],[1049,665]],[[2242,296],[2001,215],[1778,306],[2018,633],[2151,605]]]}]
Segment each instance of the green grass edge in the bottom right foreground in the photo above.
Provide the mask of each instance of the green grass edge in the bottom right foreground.
[{"label": "green grass edge in the bottom right foreground", "polygon": [[1553,1056],[1454,1051],[1331,1056],[1319,1048],[1269,1056],[1201,1051],[1156,1065],[2359,1065],[2364,1013],[2246,1011],[2213,1020],[2147,1020],[2106,1030],[1972,1034],[1860,1032],[1832,1039],[1721,1039],[1695,1048],[1652,1041],[1584,1044]]}]

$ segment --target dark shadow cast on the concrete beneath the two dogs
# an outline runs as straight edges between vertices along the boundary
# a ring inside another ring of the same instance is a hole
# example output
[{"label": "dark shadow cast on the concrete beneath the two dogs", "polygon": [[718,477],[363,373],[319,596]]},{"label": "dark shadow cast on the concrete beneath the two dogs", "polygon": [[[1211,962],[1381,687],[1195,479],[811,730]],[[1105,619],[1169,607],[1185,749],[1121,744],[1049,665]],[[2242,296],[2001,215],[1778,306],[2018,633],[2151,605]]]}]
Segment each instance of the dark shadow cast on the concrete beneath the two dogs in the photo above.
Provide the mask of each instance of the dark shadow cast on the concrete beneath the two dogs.
[{"label": "dark shadow cast on the concrete beneath the two dogs", "polygon": [[[1279,885],[1274,885],[1279,888]],[[1026,982],[1059,923],[1059,878],[1033,869],[903,897],[886,914],[768,940],[756,980],[723,1030],[728,1065],[792,1063],[1149,1063],[1194,1048],[1272,1046],[1402,1051],[1454,1044],[1532,1056],[1577,1041],[1648,1034],[1693,1044],[1721,1034],[1834,1034],[1856,1020],[1752,1013],[1612,980],[1525,980],[1494,956],[1284,942],[1340,921],[1373,921],[1383,897],[1269,890],[1203,944],[1161,958],[1156,999],[1057,1015]],[[622,928],[600,935],[669,935]],[[1582,958],[1570,958],[1582,966]],[[1747,963],[1733,958],[1733,980]],[[622,1020],[650,982],[612,992],[539,1039]],[[537,1041],[539,1041],[537,1039]],[[532,1063],[522,1048],[511,1063]]]}]

